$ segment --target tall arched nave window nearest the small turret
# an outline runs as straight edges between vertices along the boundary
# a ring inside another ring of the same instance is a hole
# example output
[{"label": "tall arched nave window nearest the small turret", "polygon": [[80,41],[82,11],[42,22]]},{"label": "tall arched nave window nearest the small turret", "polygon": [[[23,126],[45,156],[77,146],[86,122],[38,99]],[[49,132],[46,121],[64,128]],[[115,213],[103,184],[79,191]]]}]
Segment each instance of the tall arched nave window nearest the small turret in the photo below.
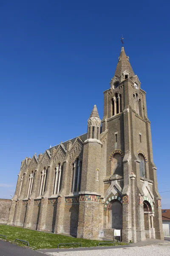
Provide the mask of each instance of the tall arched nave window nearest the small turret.
[{"label": "tall arched nave window nearest the small turret", "polygon": [[72,186],[71,186],[72,193],[80,191],[81,175],[82,175],[82,162],[79,161],[79,158],[77,157],[77,159],[72,165]]}]

